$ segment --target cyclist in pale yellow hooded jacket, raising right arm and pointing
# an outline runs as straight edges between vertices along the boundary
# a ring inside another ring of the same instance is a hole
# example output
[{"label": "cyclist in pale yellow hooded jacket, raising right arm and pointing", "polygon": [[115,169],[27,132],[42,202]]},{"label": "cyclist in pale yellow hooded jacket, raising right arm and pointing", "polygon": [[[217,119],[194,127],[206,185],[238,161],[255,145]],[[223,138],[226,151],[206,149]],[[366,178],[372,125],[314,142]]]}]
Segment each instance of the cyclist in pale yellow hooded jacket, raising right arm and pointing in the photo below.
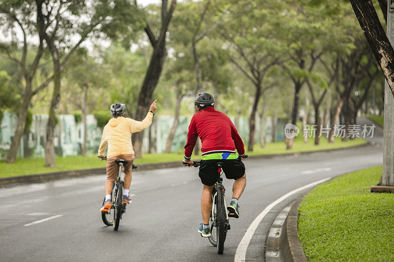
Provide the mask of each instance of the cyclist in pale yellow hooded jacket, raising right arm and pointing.
[{"label": "cyclist in pale yellow hooded jacket, raising right arm and pointing", "polygon": [[152,117],[157,104],[155,100],[149,108],[149,112],[142,121],[125,117],[126,106],[122,103],[112,104],[110,107],[112,118],[104,126],[99,146],[99,157],[104,158],[104,149],[108,144],[107,164],[105,166],[107,180],[105,182],[105,201],[100,212],[108,212],[112,207],[111,191],[113,183],[118,176],[118,159],[124,159],[128,163],[124,166],[125,190],[123,191],[123,203],[131,202],[129,192],[131,184],[131,167],[134,161],[134,150],[131,144],[131,134],[145,130],[152,124]]}]

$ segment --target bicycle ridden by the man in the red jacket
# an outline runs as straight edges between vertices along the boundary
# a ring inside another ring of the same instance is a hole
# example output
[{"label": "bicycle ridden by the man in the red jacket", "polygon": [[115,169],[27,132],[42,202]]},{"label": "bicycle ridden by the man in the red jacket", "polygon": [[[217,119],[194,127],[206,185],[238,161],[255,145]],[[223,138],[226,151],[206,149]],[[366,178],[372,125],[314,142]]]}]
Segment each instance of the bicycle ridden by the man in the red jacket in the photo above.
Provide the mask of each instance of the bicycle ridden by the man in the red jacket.
[{"label": "bicycle ridden by the man in the red jacket", "polygon": [[[243,158],[247,158],[245,155]],[[184,166],[188,164],[183,162]],[[215,187],[212,190],[212,211],[209,217],[209,228],[211,230],[211,236],[208,237],[209,242],[218,248],[218,254],[223,254],[224,245],[226,241],[227,232],[230,230],[229,213],[227,212],[226,198],[225,198],[225,186],[223,185],[222,167],[225,164],[223,162],[216,163],[218,168],[218,181],[215,183]],[[200,162],[194,162],[194,167],[199,167]]]}]

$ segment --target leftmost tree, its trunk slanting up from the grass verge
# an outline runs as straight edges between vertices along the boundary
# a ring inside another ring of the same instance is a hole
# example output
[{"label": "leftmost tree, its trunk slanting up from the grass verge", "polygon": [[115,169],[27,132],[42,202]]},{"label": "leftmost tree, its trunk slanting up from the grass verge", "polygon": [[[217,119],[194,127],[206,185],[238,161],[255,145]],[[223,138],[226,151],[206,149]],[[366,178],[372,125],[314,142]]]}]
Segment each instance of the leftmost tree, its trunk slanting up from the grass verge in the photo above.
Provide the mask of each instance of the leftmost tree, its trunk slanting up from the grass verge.
[{"label": "leftmost tree, its trunk slanting up from the grass verge", "polygon": [[[26,126],[28,108],[32,97],[45,88],[52,80],[49,77],[40,86],[33,86],[33,78],[39,68],[40,59],[44,54],[43,38],[39,36],[38,45],[29,43],[28,39],[37,37],[38,14],[33,0],[30,1],[1,1],[0,23],[4,34],[10,34],[10,41],[0,43],[0,54],[7,56],[18,64],[22,76],[22,103],[18,111],[18,118],[11,146],[8,150],[7,163],[14,163],[20,141]],[[16,31],[22,32],[22,38],[17,37]],[[21,47],[21,50],[19,49]],[[20,54],[18,54],[18,52]],[[33,59],[28,59],[33,54]]]}]

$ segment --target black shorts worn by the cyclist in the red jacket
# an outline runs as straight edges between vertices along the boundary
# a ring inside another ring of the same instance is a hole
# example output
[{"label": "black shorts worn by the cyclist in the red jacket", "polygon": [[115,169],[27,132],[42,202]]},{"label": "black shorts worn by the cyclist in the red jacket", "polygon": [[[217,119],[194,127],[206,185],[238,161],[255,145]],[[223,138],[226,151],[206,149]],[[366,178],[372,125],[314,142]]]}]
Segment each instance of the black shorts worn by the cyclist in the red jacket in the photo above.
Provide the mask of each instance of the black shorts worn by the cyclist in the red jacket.
[{"label": "black shorts worn by the cyclist in the red jacket", "polygon": [[245,165],[240,157],[237,159],[209,159],[201,160],[200,170],[198,176],[201,178],[201,183],[207,186],[212,186],[218,181],[217,162],[224,163],[222,169],[226,174],[227,179],[238,179],[245,175]]}]

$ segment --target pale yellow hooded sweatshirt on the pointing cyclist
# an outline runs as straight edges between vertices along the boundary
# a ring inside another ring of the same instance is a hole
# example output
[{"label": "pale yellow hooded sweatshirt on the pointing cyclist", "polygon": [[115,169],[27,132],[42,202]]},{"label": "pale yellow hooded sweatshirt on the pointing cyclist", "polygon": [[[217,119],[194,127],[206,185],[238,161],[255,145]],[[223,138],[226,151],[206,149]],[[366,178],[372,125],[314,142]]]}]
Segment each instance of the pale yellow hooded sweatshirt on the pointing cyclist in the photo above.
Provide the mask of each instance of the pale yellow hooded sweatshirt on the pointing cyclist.
[{"label": "pale yellow hooded sweatshirt on the pointing cyclist", "polygon": [[104,156],[104,149],[108,143],[107,157],[134,154],[131,144],[131,134],[147,129],[152,123],[152,112],[148,112],[145,119],[137,121],[118,116],[109,119],[102,130],[99,146],[99,156]]}]

